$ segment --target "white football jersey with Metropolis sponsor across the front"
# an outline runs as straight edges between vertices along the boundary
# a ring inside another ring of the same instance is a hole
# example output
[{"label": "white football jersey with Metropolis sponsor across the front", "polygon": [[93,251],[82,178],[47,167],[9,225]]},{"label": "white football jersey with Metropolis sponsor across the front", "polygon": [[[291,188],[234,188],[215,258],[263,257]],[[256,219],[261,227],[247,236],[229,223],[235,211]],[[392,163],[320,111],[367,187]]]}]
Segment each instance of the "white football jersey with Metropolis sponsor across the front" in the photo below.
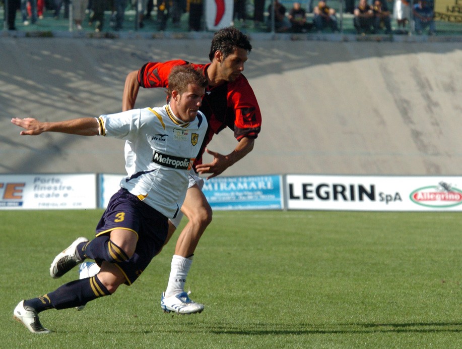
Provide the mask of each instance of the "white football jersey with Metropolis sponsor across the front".
[{"label": "white football jersey with Metropolis sponsor across the front", "polygon": [[169,105],[101,115],[102,136],[125,140],[127,177],[120,187],[166,217],[175,217],[188,188],[188,173],[207,132],[202,112],[190,123]]}]

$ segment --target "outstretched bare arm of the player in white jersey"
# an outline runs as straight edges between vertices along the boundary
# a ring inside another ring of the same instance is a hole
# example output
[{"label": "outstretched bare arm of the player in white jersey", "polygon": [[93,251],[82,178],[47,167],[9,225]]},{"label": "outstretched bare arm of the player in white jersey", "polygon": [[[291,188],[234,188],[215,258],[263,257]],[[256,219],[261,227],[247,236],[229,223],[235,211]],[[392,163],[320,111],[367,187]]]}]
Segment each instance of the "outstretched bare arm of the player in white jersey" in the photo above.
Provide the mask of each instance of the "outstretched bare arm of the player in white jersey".
[{"label": "outstretched bare arm of the player in white jersey", "polygon": [[95,118],[80,118],[58,122],[40,122],[34,118],[13,118],[11,122],[22,127],[22,136],[36,136],[43,132],[61,132],[81,136],[99,135],[99,122]]}]

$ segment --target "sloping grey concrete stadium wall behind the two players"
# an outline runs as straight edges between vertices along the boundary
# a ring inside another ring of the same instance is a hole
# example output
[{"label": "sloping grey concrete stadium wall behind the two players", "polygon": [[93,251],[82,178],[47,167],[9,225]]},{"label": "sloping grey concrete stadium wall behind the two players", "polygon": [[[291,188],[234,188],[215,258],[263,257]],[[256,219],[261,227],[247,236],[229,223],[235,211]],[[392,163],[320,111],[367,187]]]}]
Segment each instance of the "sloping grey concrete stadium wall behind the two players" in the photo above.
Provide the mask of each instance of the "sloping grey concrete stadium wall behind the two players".
[{"label": "sloping grey concrete stadium wall behind the two players", "polygon": [[[462,47],[453,42],[252,40],[255,148],[223,174],[462,173]],[[146,61],[207,63],[209,39],[0,38],[0,173],[123,173],[123,144],[19,136],[12,117],[57,121],[120,111]],[[161,105],[141,90],[137,107]],[[228,153],[232,132],[209,148]],[[206,161],[210,159],[206,157]]]}]

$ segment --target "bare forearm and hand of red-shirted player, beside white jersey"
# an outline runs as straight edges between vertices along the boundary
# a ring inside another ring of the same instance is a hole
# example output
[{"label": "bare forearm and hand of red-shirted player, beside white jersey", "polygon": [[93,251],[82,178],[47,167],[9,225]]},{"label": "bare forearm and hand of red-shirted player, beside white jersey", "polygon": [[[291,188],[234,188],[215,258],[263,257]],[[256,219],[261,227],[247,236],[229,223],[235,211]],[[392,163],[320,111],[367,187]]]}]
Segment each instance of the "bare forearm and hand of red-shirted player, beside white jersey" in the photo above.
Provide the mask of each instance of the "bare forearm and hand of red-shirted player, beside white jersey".
[{"label": "bare forearm and hand of red-shirted player, beside white jersey", "polygon": [[206,148],[206,151],[214,157],[212,162],[203,163],[196,166],[198,173],[212,173],[207,179],[217,177],[223,173],[225,169],[232,166],[253,149],[255,140],[253,138],[244,137],[237,144],[236,148],[228,155],[222,155]]}]

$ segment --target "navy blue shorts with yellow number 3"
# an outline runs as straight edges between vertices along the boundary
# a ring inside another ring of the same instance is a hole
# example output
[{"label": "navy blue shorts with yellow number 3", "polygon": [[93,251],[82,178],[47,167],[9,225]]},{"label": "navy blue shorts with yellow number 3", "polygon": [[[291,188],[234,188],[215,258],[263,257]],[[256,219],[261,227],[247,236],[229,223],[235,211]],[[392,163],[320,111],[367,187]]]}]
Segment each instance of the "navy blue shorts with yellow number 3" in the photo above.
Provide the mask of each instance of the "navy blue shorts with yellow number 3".
[{"label": "navy blue shorts with yellow number 3", "polygon": [[109,200],[96,226],[96,236],[109,234],[114,229],[127,229],[138,235],[135,254],[124,262],[114,263],[124,273],[125,283],[131,285],[164,246],[168,218],[126,189],[120,189]]}]

